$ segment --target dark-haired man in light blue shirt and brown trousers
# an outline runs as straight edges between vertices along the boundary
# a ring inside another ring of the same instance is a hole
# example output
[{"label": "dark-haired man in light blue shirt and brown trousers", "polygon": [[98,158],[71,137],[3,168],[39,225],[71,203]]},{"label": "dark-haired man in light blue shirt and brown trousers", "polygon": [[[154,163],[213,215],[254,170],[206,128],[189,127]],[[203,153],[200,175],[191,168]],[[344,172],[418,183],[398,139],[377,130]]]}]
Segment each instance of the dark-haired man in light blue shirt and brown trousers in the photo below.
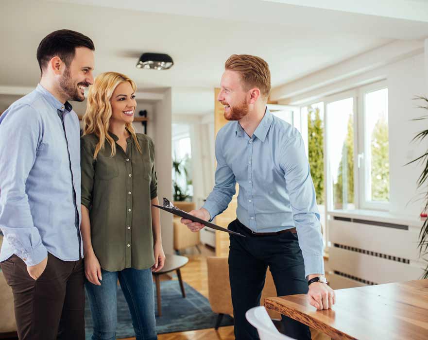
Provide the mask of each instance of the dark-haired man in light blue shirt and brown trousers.
[{"label": "dark-haired man in light blue shirt and brown trousers", "polygon": [[0,116],[0,266],[20,340],[85,339],[80,129],[94,44],[69,30],[37,49],[36,89]]}]

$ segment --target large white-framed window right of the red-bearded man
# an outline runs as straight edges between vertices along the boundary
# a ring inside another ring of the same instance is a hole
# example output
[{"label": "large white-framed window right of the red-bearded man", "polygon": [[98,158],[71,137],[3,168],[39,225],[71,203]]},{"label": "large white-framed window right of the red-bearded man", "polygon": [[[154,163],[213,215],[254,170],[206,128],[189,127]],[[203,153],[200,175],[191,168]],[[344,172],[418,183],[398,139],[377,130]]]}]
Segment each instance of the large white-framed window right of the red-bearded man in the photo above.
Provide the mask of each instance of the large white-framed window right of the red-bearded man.
[{"label": "large white-framed window right of the red-bearded man", "polygon": [[[319,206],[324,203],[330,210],[388,210],[386,83],[378,82],[326,97],[324,102],[302,107],[301,112],[308,120],[308,159]],[[318,163],[322,162],[325,168],[321,175]]]}]

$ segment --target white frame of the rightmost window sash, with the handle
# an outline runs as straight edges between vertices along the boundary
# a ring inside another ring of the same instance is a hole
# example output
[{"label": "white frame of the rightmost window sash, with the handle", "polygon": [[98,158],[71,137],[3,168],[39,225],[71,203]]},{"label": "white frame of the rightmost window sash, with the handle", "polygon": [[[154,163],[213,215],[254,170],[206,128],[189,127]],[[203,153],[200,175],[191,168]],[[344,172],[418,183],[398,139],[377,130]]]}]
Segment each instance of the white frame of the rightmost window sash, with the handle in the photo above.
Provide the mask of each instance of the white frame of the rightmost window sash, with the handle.
[{"label": "white frame of the rightmost window sash, with the handle", "polygon": [[[369,185],[370,183],[370,170],[371,170],[371,164],[370,159],[367,155],[370,154],[369,148],[370,148],[370,136],[369,132],[367,131],[366,126],[366,107],[365,107],[365,98],[366,94],[370,92],[375,92],[377,90],[381,90],[384,88],[388,88],[388,84],[386,80],[376,82],[370,85],[364,85],[358,88],[358,102],[360,107],[359,112],[359,126],[361,127],[359,129],[360,131],[360,140],[358,145],[358,154],[357,159],[360,159],[360,169],[358,169],[359,172],[359,178],[360,178],[360,186],[359,186],[359,192],[360,192],[360,198],[359,198],[359,206],[361,209],[372,209],[372,210],[385,210],[388,211],[390,208],[389,202],[375,202],[371,200],[371,187]],[[389,91],[388,91],[389,96]],[[388,148],[388,157],[391,159],[390,151]],[[358,160],[357,163],[358,168]],[[391,183],[391,182],[390,182]],[[391,186],[390,186],[390,192],[391,192]]]}]

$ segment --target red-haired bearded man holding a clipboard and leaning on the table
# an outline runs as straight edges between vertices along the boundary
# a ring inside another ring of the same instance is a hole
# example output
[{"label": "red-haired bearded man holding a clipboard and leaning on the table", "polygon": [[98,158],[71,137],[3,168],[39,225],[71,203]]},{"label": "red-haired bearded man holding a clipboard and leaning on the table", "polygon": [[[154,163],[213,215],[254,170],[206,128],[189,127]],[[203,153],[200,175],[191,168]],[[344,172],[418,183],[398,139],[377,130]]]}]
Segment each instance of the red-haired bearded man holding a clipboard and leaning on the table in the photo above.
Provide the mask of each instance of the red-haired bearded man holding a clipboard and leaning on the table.
[{"label": "red-haired bearded man holding a clipboard and leaning on the table", "polygon": [[[227,59],[217,100],[230,120],[217,134],[216,185],[201,209],[212,220],[227,208],[239,183],[237,219],[229,229],[229,279],[236,340],[256,340],[245,319],[260,304],[269,267],[278,296],[308,294],[317,309],[329,309],[335,293],[324,276],[323,238],[315,189],[302,136],[266,107],[271,73],[263,59],[234,54]],[[203,224],[182,219],[192,231]],[[282,317],[284,333],[310,340],[309,327]]]}]

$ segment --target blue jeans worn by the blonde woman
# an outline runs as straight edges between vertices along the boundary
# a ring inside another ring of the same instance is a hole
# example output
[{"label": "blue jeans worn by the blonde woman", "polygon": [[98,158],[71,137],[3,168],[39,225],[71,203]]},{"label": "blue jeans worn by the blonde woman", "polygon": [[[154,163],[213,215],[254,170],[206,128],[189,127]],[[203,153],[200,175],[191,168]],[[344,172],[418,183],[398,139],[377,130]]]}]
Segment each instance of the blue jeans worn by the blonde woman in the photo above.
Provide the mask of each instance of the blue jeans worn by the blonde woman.
[{"label": "blue jeans worn by the blonde woman", "polygon": [[101,286],[86,280],[86,292],[94,322],[92,340],[116,340],[118,323],[117,282],[128,303],[137,340],[156,340],[152,270],[127,268],[120,272],[102,270]]}]

